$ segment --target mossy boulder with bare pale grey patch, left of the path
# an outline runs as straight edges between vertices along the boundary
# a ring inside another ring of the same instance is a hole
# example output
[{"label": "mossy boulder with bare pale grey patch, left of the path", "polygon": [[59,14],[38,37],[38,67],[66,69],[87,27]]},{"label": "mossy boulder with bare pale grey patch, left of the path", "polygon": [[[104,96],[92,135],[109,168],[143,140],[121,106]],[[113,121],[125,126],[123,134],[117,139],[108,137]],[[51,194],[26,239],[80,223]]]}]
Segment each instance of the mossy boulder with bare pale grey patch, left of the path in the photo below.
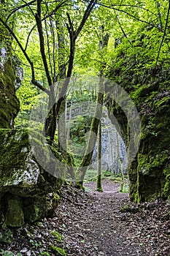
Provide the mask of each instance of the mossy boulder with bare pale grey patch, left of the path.
[{"label": "mossy boulder with bare pale grey patch, left of the path", "polygon": [[[0,210],[8,226],[18,227],[24,222],[35,222],[42,217],[52,217],[58,206],[56,193],[62,185],[64,170],[50,157],[50,151],[43,144],[43,136],[36,136],[41,148],[42,162],[53,168],[53,175],[37,162],[34,148],[30,146],[27,129],[0,129]],[[53,162],[53,165],[51,164]],[[63,171],[63,173],[62,173]],[[60,173],[60,178],[57,178]]]}]

